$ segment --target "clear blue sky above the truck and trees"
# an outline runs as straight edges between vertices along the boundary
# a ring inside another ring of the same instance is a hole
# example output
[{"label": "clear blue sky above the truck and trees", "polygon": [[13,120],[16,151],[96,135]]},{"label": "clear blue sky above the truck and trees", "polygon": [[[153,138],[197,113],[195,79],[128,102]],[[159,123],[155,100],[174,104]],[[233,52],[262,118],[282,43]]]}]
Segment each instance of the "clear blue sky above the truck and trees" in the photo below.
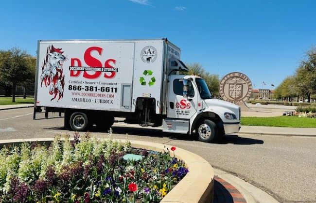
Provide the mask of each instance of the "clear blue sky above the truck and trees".
[{"label": "clear blue sky above the truck and trees", "polygon": [[315,8],[316,0],[2,1],[0,49],[36,55],[37,40],[167,37],[184,62],[271,88],[316,45]]}]

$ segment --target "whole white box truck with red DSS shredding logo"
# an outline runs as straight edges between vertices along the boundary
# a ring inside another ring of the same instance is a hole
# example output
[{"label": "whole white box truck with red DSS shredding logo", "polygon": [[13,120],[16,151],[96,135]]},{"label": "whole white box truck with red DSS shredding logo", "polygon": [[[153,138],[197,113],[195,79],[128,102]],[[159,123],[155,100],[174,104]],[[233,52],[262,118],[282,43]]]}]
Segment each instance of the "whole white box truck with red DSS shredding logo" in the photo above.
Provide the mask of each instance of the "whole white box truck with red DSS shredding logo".
[{"label": "whole white box truck with red DSS shredding logo", "polygon": [[213,99],[167,39],[38,41],[36,112],[63,112],[74,131],[108,129],[115,117],[212,141],[240,129],[240,108]]}]

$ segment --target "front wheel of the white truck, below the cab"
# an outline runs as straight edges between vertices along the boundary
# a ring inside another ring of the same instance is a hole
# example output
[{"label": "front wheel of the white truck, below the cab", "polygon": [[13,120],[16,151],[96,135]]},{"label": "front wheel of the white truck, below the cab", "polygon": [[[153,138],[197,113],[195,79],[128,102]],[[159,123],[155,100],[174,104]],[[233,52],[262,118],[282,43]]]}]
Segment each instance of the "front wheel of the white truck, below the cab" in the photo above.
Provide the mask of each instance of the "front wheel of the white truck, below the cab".
[{"label": "front wheel of the white truck, below the cab", "polygon": [[217,139],[216,125],[208,119],[196,126],[195,133],[199,141],[211,142]]}]

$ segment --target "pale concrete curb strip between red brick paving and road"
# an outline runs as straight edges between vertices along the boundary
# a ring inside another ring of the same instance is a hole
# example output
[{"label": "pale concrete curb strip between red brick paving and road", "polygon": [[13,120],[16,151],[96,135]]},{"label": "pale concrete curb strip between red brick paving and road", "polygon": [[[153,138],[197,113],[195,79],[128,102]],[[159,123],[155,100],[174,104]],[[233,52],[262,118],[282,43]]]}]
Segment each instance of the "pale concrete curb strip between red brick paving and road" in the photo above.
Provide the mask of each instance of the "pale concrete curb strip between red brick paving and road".
[{"label": "pale concrete curb strip between red brick paving and road", "polygon": [[218,169],[214,169],[214,174],[236,187],[244,196],[247,203],[278,203],[278,201],[268,193],[232,174]]}]

